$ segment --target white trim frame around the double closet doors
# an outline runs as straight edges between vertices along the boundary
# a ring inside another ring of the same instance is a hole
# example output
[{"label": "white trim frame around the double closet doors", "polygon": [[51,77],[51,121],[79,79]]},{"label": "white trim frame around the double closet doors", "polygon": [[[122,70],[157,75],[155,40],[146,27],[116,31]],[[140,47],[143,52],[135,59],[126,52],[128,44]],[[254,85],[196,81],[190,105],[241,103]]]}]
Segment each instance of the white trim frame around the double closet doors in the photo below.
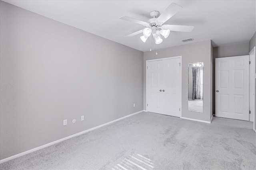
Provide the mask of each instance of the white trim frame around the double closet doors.
[{"label": "white trim frame around the double closet doors", "polygon": [[[146,60],[146,67],[148,66],[148,62],[168,60],[168,59],[180,59],[180,117],[182,117],[182,56],[180,55],[180,56],[174,56],[174,57]],[[148,112],[147,90],[148,90],[148,85],[147,85],[147,68],[146,68],[146,112]]]}]

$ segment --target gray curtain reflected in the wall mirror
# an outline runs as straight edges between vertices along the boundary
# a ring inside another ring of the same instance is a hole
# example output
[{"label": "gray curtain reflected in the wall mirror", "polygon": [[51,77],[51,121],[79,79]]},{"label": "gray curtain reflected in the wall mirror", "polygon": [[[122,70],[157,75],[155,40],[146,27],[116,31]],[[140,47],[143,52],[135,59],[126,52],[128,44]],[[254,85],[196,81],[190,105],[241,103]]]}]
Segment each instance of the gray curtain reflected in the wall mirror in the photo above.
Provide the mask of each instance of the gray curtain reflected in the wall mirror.
[{"label": "gray curtain reflected in the wall mirror", "polygon": [[192,100],[201,99],[200,95],[200,68],[192,67],[193,90]]}]

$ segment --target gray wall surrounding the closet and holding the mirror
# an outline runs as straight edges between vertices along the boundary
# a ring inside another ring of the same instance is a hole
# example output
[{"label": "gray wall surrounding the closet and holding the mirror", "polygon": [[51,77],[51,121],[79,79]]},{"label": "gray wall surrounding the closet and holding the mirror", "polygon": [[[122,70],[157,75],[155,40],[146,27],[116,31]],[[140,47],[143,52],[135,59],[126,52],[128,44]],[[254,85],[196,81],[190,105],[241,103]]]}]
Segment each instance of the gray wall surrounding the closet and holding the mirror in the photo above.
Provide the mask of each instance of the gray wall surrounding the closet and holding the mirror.
[{"label": "gray wall surrounding the closet and holding the mirror", "polygon": [[[146,110],[146,60],[182,56],[182,117],[210,121],[211,108],[211,41],[202,41],[144,52],[144,109]],[[204,62],[203,113],[188,111],[188,63]]]}]

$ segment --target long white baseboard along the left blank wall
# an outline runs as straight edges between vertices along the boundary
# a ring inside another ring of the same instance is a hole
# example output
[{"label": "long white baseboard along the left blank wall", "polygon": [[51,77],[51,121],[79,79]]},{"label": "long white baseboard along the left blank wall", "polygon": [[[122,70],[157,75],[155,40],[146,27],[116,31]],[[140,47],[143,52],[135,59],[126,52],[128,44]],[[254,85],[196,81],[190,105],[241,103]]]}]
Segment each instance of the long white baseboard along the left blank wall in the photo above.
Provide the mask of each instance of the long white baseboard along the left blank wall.
[{"label": "long white baseboard along the left blank wall", "polygon": [[70,136],[68,136],[68,137],[64,137],[64,138],[59,139],[59,140],[57,140],[57,141],[53,141],[53,142],[51,142],[51,143],[47,143],[47,144],[42,145],[42,146],[40,146],[40,147],[36,147],[36,148],[34,148],[34,149],[30,149],[30,150],[27,150],[27,151],[25,151],[25,152],[21,152],[21,153],[19,153],[19,154],[10,156],[10,157],[8,157],[8,158],[5,158],[5,159],[0,160],[0,164],[2,164],[2,163],[4,163],[4,162],[7,162],[7,161],[9,161],[9,160],[18,158],[18,157],[23,156],[23,155],[25,155],[25,154],[29,154],[29,153],[34,152],[34,151],[36,151],[36,150],[43,149],[43,148],[48,147],[48,146],[50,146],[50,145],[54,145],[54,144],[56,144],[56,143],[65,141],[65,140],[70,139],[70,138],[72,138],[72,137],[76,137],[76,136],[78,136],[78,135],[82,135],[83,133],[92,131],[92,130],[94,130],[94,129],[98,129],[98,128],[102,127],[102,126],[106,126],[106,125],[108,125],[108,124],[110,124],[110,123],[114,123],[114,122],[116,122],[116,121],[119,121],[119,120],[124,119],[124,118],[126,118],[126,117],[130,117],[130,116],[132,116],[132,115],[136,115],[136,114],[141,113],[141,112],[143,112],[143,110],[142,110],[142,111],[138,111],[138,112],[136,112],[136,113],[132,113],[132,114],[127,115],[127,116],[124,116],[124,117],[121,117],[121,118],[119,118],[119,119],[110,121],[110,122],[108,122],[108,123],[104,123],[104,124],[102,124],[102,125],[93,127],[93,128],[91,128],[91,129],[88,129],[88,130],[85,130],[85,131],[76,133],[76,134],[74,134],[74,135],[70,135]]}]

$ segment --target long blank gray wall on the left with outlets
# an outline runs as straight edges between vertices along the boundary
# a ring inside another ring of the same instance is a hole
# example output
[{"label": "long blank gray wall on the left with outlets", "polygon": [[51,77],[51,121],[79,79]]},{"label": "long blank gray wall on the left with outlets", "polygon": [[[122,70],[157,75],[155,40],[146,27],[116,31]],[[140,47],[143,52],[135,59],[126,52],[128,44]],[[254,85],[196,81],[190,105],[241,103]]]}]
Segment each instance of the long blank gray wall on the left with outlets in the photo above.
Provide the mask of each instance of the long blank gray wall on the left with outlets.
[{"label": "long blank gray wall on the left with outlets", "polygon": [[143,52],[0,6],[0,159],[143,109]]}]

